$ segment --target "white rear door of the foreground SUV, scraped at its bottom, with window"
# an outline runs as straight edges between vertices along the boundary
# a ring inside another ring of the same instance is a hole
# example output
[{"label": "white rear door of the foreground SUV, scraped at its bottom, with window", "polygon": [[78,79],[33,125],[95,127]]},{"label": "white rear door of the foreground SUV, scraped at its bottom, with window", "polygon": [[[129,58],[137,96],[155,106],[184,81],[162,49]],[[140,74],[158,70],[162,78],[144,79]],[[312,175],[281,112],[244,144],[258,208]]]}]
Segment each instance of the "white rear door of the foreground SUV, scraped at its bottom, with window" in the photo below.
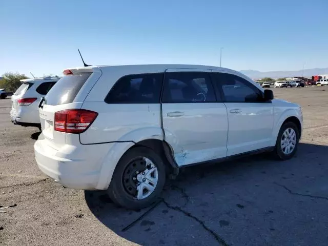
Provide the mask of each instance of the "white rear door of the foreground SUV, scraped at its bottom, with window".
[{"label": "white rear door of the foreground SUV, scraped at its bottom, with window", "polygon": [[217,102],[210,71],[166,71],[162,124],[178,166],[227,156],[227,109]]}]

